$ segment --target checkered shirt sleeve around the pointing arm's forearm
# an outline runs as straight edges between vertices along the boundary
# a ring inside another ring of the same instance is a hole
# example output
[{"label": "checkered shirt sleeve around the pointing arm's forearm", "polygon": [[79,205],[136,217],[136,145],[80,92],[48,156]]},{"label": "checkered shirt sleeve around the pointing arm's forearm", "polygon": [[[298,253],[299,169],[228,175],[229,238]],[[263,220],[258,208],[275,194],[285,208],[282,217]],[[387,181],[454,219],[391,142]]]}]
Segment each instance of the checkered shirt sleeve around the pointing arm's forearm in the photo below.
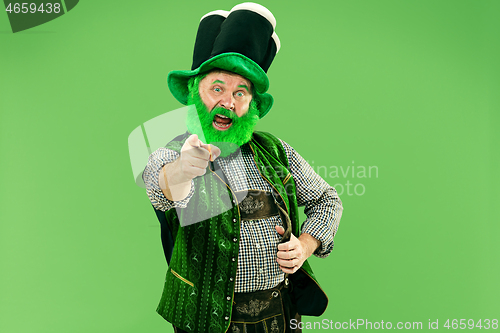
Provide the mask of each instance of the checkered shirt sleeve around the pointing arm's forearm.
[{"label": "checkered shirt sleeve around the pointing arm's forearm", "polygon": [[175,161],[177,157],[179,157],[179,153],[176,151],[167,148],[158,148],[155,152],[149,155],[148,164],[142,174],[142,179],[144,180],[144,184],[146,184],[146,192],[149,200],[155,209],[161,210],[162,212],[172,208],[186,208],[189,199],[191,199],[194,194],[193,181],[191,181],[191,190],[188,196],[180,201],[168,200],[165,198],[165,195],[163,195],[163,192],[160,189],[158,176],[161,168],[163,168],[165,164]]}]

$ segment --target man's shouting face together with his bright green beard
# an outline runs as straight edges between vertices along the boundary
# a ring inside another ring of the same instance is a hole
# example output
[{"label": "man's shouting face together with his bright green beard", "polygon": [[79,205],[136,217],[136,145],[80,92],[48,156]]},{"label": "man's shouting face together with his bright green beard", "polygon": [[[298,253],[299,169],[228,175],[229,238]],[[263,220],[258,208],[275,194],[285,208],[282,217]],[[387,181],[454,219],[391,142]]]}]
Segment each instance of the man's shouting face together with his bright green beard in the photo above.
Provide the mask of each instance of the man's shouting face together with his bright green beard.
[{"label": "man's shouting face together with his bright green beard", "polygon": [[186,125],[191,134],[204,137],[228,156],[251,140],[259,118],[252,100],[251,82],[225,71],[205,76],[197,87],[190,87]]}]

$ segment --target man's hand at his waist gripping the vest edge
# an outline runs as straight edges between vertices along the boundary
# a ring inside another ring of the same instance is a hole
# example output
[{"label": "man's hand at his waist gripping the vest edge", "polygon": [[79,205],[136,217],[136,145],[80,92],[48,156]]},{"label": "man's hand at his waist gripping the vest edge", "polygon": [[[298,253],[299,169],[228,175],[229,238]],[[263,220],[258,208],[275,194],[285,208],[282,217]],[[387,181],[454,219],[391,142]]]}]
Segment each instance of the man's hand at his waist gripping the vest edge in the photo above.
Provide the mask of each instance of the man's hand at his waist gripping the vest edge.
[{"label": "man's hand at his waist gripping the vest edge", "polygon": [[[285,233],[281,226],[276,226],[276,231],[280,235]],[[321,242],[309,234],[302,234],[299,238],[292,234],[290,241],[278,244],[277,262],[281,270],[288,274],[295,273],[320,245]]]}]

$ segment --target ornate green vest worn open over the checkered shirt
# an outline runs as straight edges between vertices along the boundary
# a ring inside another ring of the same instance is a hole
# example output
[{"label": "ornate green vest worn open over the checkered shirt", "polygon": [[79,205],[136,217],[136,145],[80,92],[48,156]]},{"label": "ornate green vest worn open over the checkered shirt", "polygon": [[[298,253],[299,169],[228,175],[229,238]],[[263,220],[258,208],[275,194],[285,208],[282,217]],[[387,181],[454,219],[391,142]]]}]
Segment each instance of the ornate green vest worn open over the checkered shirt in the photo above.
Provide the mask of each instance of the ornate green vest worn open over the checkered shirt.
[{"label": "ornate green vest worn open over the checkered shirt", "polygon": [[[180,152],[188,136],[186,133],[175,138],[166,148]],[[288,171],[283,145],[265,132],[255,132],[248,145],[260,174],[285,202],[292,232],[299,237],[295,182]],[[193,179],[195,193],[188,206],[165,212],[175,246],[156,311],[187,332],[222,333],[230,324],[238,266],[240,212],[236,195],[223,179],[221,173],[207,168],[204,176]],[[328,298],[307,260],[289,279],[293,285],[292,301],[298,312],[321,315]]]}]

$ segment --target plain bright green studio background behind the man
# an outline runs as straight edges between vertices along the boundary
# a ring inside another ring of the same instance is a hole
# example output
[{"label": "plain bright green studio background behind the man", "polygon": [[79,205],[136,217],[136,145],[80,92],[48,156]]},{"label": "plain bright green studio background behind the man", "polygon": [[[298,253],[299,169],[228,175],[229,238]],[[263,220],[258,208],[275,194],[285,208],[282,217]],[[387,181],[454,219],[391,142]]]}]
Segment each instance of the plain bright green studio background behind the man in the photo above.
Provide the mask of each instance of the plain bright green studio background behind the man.
[{"label": "plain bright green studio background behind the man", "polygon": [[[127,138],[181,107],[167,73],[237,3],[87,0],[16,34],[0,13],[0,332],[172,331]],[[378,167],[326,177],[365,193],[341,195],[312,259],[329,307],[303,320],[500,319],[500,2],[261,3],[282,48],[259,129],[315,167]]]}]

